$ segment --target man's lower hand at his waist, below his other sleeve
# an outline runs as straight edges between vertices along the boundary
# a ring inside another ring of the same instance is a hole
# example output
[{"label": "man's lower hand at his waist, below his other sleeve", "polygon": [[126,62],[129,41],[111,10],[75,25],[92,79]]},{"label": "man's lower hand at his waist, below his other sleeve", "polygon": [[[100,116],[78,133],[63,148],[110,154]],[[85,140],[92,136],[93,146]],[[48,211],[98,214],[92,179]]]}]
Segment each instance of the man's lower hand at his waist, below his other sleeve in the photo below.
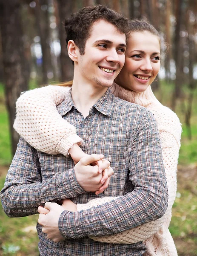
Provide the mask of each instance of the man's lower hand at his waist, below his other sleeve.
[{"label": "man's lower hand at his waist, below his other sleeve", "polygon": [[[43,209],[47,209],[50,212],[45,214],[42,213]],[[60,230],[58,227],[58,221],[61,213],[64,211],[64,208],[59,204],[46,202],[45,208],[38,207],[39,219],[38,223],[43,227],[43,233],[47,234],[47,237],[54,242],[60,242],[65,240],[65,238],[60,234]]]}]

